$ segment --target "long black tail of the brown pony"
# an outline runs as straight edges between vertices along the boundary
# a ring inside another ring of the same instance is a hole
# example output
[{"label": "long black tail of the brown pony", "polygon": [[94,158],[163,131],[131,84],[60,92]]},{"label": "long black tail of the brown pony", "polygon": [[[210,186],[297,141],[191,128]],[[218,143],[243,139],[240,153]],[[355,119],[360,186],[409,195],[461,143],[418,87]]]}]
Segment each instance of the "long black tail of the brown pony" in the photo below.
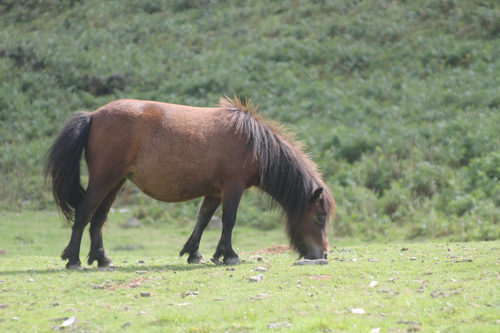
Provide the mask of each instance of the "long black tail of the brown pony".
[{"label": "long black tail of the brown pony", "polygon": [[80,160],[91,119],[90,113],[76,112],[48,150],[45,179],[51,179],[55,203],[69,224],[85,194],[80,181]]}]

